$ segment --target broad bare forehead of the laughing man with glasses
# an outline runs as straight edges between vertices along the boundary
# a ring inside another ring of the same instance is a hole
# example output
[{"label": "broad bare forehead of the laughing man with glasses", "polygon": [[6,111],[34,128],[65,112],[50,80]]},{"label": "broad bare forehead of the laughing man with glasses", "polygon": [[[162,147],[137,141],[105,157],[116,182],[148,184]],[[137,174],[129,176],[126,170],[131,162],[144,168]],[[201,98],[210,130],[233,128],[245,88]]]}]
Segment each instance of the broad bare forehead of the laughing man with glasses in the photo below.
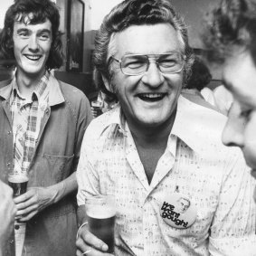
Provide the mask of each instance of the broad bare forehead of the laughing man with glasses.
[{"label": "broad bare forehead of the laughing man with glasses", "polygon": [[171,24],[132,25],[112,38],[117,56],[180,51],[181,40]]}]

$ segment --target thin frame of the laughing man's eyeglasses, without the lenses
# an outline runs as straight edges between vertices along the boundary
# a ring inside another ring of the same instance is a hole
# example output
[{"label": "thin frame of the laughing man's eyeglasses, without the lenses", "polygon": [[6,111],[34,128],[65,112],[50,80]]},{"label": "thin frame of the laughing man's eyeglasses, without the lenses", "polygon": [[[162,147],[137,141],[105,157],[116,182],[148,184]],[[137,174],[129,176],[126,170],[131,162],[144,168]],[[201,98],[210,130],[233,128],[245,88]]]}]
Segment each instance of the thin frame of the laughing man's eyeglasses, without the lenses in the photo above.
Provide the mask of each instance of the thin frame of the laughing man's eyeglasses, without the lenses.
[{"label": "thin frame of the laughing man's eyeglasses, without the lenses", "polygon": [[[180,70],[175,71],[175,72],[163,72],[163,71],[161,71],[160,68],[159,68],[159,64],[158,64],[157,61],[159,60],[159,58],[160,58],[161,56],[163,56],[163,55],[168,55],[168,54],[173,54],[173,53],[178,53],[178,54],[180,54],[180,57],[181,57],[181,59],[182,59],[182,65],[181,65]],[[130,74],[130,73],[124,72],[123,69],[122,69],[122,60],[123,60],[125,57],[128,57],[128,56],[147,56],[147,69],[146,69],[146,71],[143,71],[143,72],[138,73],[138,74]],[[117,58],[115,58],[113,55],[111,55],[111,56],[109,57],[109,62],[111,61],[111,59],[113,59],[115,62],[118,62],[119,65],[120,65],[120,70],[121,70],[122,73],[125,74],[125,75],[128,75],[128,76],[139,76],[139,75],[144,75],[145,73],[147,73],[148,68],[149,68],[149,64],[151,63],[151,62],[149,61],[150,56],[156,56],[156,57],[154,58],[154,59],[156,60],[156,61],[155,61],[156,67],[157,67],[158,71],[159,71],[160,73],[164,74],[164,75],[165,75],[165,74],[175,74],[175,73],[178,73],[178,72],[182,71],[183,68],[184,68],[184,66],[185,66],[185,59],[186,59],[186,56],[185,56],[185,54],[182,54],[181,52],[166,52],[166,53],[158,53],[158,54],[154,54],[154,53],[152,53],[152,54],[126,54],[126,55],[122,56],[120,60],[117,59]],[[152,57],[151,57],[151,58],[152,58]]]}]

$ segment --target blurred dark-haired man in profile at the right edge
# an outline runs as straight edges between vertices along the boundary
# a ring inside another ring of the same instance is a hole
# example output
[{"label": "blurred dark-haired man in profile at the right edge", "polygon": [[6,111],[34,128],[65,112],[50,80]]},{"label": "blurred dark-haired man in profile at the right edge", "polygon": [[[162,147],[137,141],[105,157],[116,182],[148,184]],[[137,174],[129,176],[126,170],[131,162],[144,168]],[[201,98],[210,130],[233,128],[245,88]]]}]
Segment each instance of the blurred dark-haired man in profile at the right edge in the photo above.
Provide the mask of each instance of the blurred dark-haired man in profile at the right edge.
[{"label": "blurred dark-haired man in profile at the right edge", "polygon": [[[223,143],[241,147],[256,177],[256,2],[223,0],[209,16],[204,43],[208,61],[223,68],[223,84],[233,104]],[[220,65],[222,64],[222,65]],[[256,200],[256,194],[254,193]]]}]

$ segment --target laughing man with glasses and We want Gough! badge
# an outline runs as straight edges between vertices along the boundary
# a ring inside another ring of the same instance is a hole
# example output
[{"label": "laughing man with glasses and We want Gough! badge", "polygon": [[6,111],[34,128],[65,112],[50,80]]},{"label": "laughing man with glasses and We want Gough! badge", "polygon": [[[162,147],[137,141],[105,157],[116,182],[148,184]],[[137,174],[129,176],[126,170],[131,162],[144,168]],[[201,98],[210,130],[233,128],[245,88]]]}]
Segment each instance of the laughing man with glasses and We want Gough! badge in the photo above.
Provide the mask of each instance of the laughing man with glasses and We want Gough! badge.
[{"label": "laughing man with glasses and We want Gough! badge", "polygon": [[[83,138],[77,255],[109,255],[87,223],[83,204],[92,194],[115,195],[115,255],[250,255],[254,181],[241,152],[222,144],[225,117],[180,96],[194,55],[170,2],[114,7],[94,62],[96,82],[119,106]],[[179,198],[189,203],[185,213]]]}]

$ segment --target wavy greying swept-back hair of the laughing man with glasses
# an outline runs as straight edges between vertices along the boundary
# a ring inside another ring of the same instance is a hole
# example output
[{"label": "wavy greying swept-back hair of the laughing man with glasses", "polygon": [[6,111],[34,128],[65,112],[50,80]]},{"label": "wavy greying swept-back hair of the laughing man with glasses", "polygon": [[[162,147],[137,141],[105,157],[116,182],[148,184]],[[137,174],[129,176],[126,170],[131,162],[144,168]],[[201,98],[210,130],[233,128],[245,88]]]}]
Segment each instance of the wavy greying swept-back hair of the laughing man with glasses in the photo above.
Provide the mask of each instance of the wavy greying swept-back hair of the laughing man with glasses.
[{"label": "wavy greying swept-back hair of the laughing man with glasses", "polygon": [[186,83],[194,62],[194,54],[188,44],[187,29],[182,17],[175,12],[167,0],[125,0],[111,10],[96,33],[93,58],[94,80],[100,90],[113,100],[117,100],[116,95],[106,89],[101,78],[103,75],[109,82],[111,81],[109,51],[112,47],[110,41],[115,33],[122,32],[131,25],[163,23],[171,24],[178,34],[182,51],[186,56],[184,84]]}]

